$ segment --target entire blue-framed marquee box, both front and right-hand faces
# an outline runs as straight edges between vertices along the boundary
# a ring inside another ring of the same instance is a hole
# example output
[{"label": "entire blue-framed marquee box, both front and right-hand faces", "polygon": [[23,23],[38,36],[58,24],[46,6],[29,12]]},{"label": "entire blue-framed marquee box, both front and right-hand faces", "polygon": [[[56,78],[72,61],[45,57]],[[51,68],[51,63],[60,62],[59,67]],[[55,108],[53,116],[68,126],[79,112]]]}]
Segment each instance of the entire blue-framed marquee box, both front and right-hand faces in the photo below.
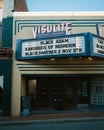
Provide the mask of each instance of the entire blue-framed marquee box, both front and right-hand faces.
[{"label": "entire blue-framed marquee box, both front and right-hand faces", "polygon": [[104,40],[91,33],[17,40],[16,59],[104,56]]}]

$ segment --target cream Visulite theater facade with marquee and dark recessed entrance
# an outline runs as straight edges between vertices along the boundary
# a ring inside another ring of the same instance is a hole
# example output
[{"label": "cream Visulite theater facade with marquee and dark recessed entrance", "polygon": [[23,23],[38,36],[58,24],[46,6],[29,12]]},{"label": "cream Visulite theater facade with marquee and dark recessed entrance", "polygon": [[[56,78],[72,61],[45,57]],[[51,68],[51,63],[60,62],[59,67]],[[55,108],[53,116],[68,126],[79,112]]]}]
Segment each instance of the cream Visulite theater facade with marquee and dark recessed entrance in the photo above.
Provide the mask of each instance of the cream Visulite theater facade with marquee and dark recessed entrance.
[{"label": "cream Visulite theater facade with marquee and dark recessed entrance", "polygon": [[[12,115],[31,109],[104,108],[104,12],[13,13]],[[15,109],[14,109],[15,108]]]}]

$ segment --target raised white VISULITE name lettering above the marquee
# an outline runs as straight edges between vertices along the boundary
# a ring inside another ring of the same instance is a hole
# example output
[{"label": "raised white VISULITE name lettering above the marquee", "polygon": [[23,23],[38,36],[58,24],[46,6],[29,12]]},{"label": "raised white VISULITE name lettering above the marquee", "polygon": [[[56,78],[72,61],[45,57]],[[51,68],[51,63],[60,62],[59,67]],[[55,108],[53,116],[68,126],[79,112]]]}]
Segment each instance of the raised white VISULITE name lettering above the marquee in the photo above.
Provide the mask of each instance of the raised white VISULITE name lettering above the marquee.
[{"label": "raised white VISULITE name lettering above the marquee", "polygon": [[34,38],[53,37],[71,34],[71,23],[38,25],[33,28]]}]

